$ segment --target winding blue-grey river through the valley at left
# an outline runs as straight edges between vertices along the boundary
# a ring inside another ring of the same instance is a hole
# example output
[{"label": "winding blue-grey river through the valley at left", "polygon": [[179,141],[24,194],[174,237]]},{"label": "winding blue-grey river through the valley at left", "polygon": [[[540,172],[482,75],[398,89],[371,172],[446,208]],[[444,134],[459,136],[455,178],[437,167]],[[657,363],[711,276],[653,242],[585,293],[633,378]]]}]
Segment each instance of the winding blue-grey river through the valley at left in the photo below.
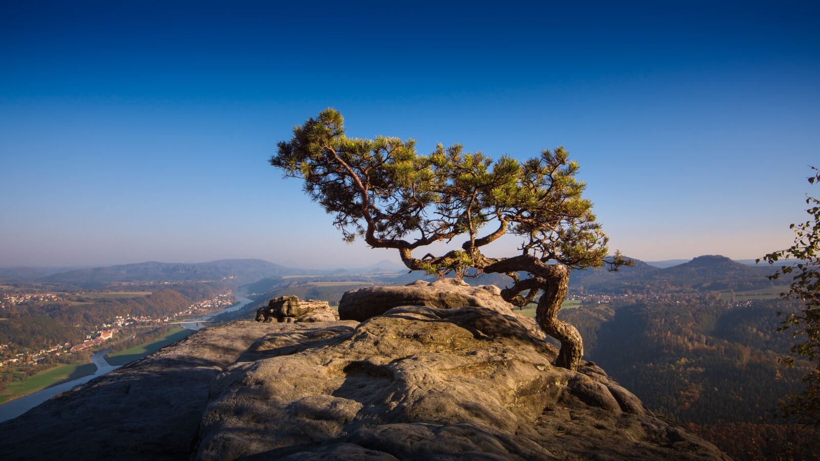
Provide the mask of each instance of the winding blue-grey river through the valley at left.
[{"label": "winding blue-grey river through the valley at left", "polygon": [[[181,326],[183,328],[188,328],[189,330],[201,330],[204,327],[208,326],[207,322],[203,322],[209,319],[212,316],[219,315],[221,313],[230,313],[240,308],[244,308],[248,303],[253,302],[253,299],[239,297],[239,304],[235,304],[230,306],[230,308],[220,309],[214,313],[210,313],[208,315],[191,317],[190,322],[182,322]],[[187,319],[186,319],[187,320]],[[93,375],[80,377],[72,381],[67,381],[62,384],[58,384],[57,386],[47,387],[43,390],[38,390],[34,392],[34,394],[25,395],[25,397],[21,397],[20,399],[14,399],[6,404],[0,405],[0,422],[7,421],[11,418],[17,418],[21,414],[33,409],[39,404],[42,404],[48,399],[60,394],[61,392],[65,392],[66,390],[72,389],[75,386],[80,386],[80,384],[84,384],[88,381],[91,381],[95,377],[101,377],[107,372],[112,370],[116,370],[116,368],[112,365],[109,365],[105,360],[105,355],[108,354],[111,349],[105,349],[98,352],[95,352],[91,356],[91,361],[94,365],[97,366],[97,371],[93,373]]]}]

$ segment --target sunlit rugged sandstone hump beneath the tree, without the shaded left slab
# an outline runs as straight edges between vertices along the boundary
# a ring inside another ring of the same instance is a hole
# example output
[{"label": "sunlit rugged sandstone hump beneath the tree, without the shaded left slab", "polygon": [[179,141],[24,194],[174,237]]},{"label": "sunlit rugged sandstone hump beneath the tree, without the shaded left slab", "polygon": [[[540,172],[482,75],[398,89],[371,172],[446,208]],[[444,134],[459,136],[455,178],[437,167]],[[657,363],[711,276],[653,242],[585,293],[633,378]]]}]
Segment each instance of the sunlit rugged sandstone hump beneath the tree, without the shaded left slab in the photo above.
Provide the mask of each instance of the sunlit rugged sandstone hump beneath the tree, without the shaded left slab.
[{"label": "sunlit rugged sandstone hump beneath the tree, without the shaded left slab", "polygon": [[298,354],[281,335],[216,380],[198,459],[727,459],[499,310],[391,308]]}]

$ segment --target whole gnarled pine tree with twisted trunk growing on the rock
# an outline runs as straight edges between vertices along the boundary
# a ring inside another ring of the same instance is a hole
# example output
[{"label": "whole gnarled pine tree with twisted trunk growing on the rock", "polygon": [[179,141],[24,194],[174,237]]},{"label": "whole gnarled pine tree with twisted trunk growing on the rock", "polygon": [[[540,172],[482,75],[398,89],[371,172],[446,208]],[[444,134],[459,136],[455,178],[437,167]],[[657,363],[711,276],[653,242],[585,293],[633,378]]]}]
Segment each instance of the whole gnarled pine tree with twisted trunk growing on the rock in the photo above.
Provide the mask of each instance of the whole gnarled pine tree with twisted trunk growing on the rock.
[{"label": "whole gnarled pine tree with twisted trunk growing on the rock", "polygon": [[[578,366],[581,336],[564,331],[555,317],[569,270],[626,262],[618,253],[608,257],[607,236],[592,202],[583,197],[586,185],[576,178],[578,163],[569,160],[566,149],[544,150],[524,162],[506,155],[493,161],[465,152],[460,144],[440,144],[424,155],[413,139],[348,138],[344,118],[330,108],[293,133],[277,144],[270,163],[286,177],[303,179],[305,192],[334,217],[345,240],[361,237],[373,248],[397,249],[410,270],[459,278],[508,274],[512,286],[502,296],[516,305],[544,290],[536,317],[562,342],[557,363]],[[522,238],[520,254],[481,253],[507,233]],[[457,237],[463,240],[460,249],[413,256],[415,249]],[[517,272],[530,276],[520,280]],[[573,341],[577,344],[570,347]]]}]

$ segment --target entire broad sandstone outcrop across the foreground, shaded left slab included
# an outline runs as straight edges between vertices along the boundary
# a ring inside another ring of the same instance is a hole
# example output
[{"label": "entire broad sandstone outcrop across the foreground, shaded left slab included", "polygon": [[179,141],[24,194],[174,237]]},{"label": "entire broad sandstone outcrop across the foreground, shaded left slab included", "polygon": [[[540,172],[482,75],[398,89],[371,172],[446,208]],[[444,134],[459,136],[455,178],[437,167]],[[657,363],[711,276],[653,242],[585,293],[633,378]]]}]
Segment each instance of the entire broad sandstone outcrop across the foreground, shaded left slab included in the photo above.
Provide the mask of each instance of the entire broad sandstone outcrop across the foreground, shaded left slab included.
[{"label": "entire broad sandstone outcrop across the foreground, shaded left slab included", "polygon": [[727,459],[503,309],[232,322],[0,424],[4,459]]}]

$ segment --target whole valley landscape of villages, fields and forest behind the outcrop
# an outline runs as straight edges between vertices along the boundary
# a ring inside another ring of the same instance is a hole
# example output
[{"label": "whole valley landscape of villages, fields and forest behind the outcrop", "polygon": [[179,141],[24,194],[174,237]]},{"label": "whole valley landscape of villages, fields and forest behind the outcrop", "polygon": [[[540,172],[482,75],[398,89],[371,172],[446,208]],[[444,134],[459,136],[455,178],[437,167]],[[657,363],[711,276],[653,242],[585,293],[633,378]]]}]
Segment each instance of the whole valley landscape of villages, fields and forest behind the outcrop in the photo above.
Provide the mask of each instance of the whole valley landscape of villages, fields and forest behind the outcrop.
[{"label": "whole valley landscape of villages, fields and forest behind the outcrop", "polygon": [[[195,272],[207,274],[209,280],[193,281],[179,280],[191,276],[189,267],[171,264],[154,272],[156,263],[148,266],[152,269],[129,265],[139,280],[100,280],[110,278],[105,269],[82,270],[91,281],[80,280],[77,273],[52,274],[49,281],[0,280],[6,287],[0,294],[0,317],[6,318],[0,322],[0,352],[5,360],[25,359],[3,367],[0,399],[88,375],[95,369],[89,354],[103,348],[112,349],[105,358],[110,365],[130,363],[189,335],[180,322],[185,326],[185,318],[202,318],[192,316],[221,309],[225,313],[205,317],[216,324],[252,318],[257,308],[278,296],[326,300],[336,306],[344,292],[363,286],[435,280],[395,269],[290,270],[255,260],[243,268],[233,260],[225,272],[208,268],[219,264],[194,265],[210,272]],[[260,266],[267,272],[254,269]],[[174,269],[167,272],[168,267]],[[141,280],[147,272],[159,278]],[[776,333],[777,312],[790,312],[797,304],[780,299],[784,285],[769,281],[766,275],[771,272],[717,256],[670,267],[635,261],[618,272],[573,272],[560,317],[581,331],[585,358],[604,367],[649,409],[736,459],[748,459],[736,450],[748,445],[748,437],[757,437],[755,450],[766,454],[781,448],[777,434],[795,431],[778,426],[772,414],[783,395],[799,390],[805,372],[778,363],[788,352],[790,338]],[[505,278],[492,274],[466,281],[503,287]],[[96,288],[78,288],[81,285]],[[246,294],[247,302],[225,308],[239,294]],[[517,312],[535,317],[535,304]],[[112,333],[101,340],[107,331]],[[75,349],[89,341],[87,350]],[[55,346],[51,355],[43,354]],[[737,427],[742,430],[727,436],[720,428],[728,425],[741,425]]]}]

